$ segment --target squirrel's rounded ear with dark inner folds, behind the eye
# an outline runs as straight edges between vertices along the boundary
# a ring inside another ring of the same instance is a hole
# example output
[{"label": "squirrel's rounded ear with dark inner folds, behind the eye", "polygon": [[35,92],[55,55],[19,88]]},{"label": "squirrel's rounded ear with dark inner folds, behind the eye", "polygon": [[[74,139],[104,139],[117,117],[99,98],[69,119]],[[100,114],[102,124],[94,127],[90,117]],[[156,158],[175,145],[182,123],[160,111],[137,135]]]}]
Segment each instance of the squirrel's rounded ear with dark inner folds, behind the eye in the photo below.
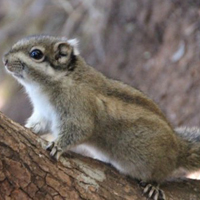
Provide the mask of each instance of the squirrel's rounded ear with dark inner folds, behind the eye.
[{"label": "squirrel's rounded ear with dark inner folds, behind the eye", "polygon": [[72,51],[73,48],[68,42],[56,43],[54,45],[55,60],[60,64],[68,64]]}]

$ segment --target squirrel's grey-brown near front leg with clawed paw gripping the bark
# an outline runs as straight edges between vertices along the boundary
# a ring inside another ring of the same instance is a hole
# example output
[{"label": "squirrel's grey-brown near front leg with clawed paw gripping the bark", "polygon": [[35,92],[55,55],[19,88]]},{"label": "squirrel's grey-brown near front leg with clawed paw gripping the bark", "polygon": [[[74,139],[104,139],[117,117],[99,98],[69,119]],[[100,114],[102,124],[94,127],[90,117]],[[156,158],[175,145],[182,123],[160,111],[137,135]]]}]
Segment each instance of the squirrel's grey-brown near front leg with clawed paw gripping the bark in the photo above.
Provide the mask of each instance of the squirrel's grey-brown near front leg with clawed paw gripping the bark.
[{"label": "squirrel's grey-brown near front leg with clawed paw gripping the bark", "polygon": [[50,155],[56,160],[59,160],[64,152],[86,141],[93,131],[92,123],[74,123],[72,120],[68,120],[67,123],[61,127],[57,139],[46,147],[46,150],[49,150]]}]

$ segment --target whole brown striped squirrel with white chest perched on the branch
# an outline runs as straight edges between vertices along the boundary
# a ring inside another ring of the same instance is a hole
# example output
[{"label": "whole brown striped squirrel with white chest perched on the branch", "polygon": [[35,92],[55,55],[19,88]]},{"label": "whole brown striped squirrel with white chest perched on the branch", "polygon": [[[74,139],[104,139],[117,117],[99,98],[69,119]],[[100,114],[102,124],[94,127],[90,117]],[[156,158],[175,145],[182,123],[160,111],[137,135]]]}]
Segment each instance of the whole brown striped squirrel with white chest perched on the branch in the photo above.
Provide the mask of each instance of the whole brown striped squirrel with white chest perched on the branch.
[{"label": "whole brown striped squirrel with white chest perched on the branch", "polygon": [[86,64],[76,39],[28,36],[3,57],[33,105],[26,123],[51,132],[47,146],[57,160],[66,151],[87,150],[138,180],[147,198],[166,199],[159,188],[179,168],[200,168],[200,130],[174,129],[141,91]]}]

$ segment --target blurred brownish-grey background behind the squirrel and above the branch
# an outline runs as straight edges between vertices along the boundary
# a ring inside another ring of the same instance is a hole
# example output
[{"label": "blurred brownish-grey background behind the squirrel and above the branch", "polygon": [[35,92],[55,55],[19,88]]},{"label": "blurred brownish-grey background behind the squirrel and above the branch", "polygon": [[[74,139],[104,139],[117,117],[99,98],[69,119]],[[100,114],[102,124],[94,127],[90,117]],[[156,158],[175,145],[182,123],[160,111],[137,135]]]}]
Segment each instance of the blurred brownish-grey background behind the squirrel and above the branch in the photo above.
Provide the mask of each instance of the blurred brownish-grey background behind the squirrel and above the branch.
[{"label": "blurred brownish-grey background behind the squirrel and above the branch", "polygon": [[[0,0],[0,57],[41,33],[78,38],[87,63],[149,95],[174,126],[200,126],[199,0]],[[0,110],[21,124],[31,114],[2,62]]]}]

